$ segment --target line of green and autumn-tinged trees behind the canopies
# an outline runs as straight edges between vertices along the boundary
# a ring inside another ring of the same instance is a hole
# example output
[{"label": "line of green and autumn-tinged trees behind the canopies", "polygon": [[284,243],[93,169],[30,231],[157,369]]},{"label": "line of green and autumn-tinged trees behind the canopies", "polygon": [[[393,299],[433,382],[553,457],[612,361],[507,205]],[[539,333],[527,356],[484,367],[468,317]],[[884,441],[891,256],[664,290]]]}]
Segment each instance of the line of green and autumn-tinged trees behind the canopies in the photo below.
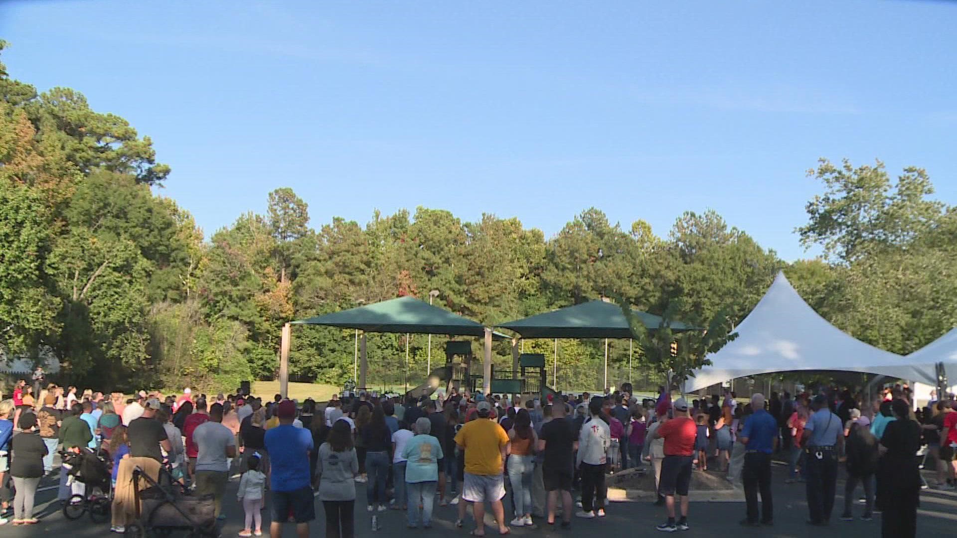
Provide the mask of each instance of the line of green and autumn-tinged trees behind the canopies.
[{"label": "line of green and autumn-tinged trees behind the canopies", "polygon": [[[933,198],[921,168],[892,178],[879,162],[821,160],[809,175],[823,192],[798,232],[823,255],[793,263],[713,211],[681,213],[657,236],[638,217],[622,226],[590,208],[546,238],[515,217],[468,222],[423,207],[317,224],[288,188],[269,194],[264,214],[206,238],[151,189],[170,168],[125,120],[68,88],[37,92],[3,64],[0,95],[0,350],[50,348],[83,386],[189,379],[230,391],[275,375],[285,322],[401,295],[428,301],[432,290],[436,305],[486,325],[599,297],[657,314],[679,300],[675,317],[706,325],[722,310],[743,319],[784,269],[818,313],[890,351],[922,347],[957,321],[957,212]],[[294,378],[351,378],[353,337],[297,328]],[[434,363],[445,340],[432,340]],[[368,342],[371,383],[426,376],[424,336],[412,337],[408,378],[404,335]],[[554,342],[524,347],[551,366]],[[560,388],[600,386],[602,342],[557,347]],[[635,379],[660,375],[633,348]],[[496,351],[509,369],[507,344]],[[612,342],[610,355],[610,378],[627,380],[629,342]]]}]

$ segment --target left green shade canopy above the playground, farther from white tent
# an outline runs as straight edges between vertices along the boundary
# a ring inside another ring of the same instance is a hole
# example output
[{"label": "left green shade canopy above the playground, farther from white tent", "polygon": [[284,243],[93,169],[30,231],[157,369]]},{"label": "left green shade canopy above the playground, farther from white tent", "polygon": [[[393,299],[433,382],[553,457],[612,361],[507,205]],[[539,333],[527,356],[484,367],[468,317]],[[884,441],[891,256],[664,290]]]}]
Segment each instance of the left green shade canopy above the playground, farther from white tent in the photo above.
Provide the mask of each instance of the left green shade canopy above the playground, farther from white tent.
[{"label": "left green shade canopy above the playground, farther from white tent", "polygon": [[[483,336],[485,334],[485,327],[481,324],[414,297],[400,297],[382,303],[367,304],[293,323],[356,328],[366,332],[449,336]],[[503,335],[497,336],[501,338]]]}]

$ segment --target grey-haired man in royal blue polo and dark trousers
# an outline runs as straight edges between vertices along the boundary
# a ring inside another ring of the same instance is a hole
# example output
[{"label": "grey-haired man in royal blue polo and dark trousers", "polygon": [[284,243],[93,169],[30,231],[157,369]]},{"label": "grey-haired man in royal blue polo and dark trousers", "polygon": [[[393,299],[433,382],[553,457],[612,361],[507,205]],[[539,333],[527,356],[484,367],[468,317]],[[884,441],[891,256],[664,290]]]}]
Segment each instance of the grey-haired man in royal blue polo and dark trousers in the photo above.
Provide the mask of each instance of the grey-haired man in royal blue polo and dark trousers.
[{"label": "grey-haired man in royal blue polo and dark trousers", "polygon": [[[772,396],[776,396],[775,392]],[[778,402],[780,407],[780,402]],[[746,518],[741,525],[755,527],[758,524],[758,491],[761,491],[761,523],[773,525],[774,504],[771,500],[771,454],[777,444],[778,421],[765,411],[765,396],[758,392],[751,396],[753,412],[747,417],[745,427],[739,439],[745,444],[745,469],[742,479],[745,482]],[[778,410],[780,414],[780,410]]]}]

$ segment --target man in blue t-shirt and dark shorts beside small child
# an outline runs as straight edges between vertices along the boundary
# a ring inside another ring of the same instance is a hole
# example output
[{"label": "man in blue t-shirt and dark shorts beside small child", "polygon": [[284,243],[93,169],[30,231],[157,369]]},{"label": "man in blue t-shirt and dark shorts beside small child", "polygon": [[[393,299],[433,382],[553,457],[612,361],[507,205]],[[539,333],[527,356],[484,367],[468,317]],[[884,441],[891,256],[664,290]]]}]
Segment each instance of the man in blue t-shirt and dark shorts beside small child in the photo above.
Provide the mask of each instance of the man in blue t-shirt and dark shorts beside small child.
[{"label": "man in blue t-shirt and dark shorts beside small child", "polygon": [[309,476],[309,453],[312,435],[309,430],[293,426],[296,404],[282,400],[275,407],[279,425],[266,431],[266,452],[272,467],[270,489],[273,494],[273,523],[269,527],[272,538],[282,535],[282,524],[290,516],[296,521],[300,538],[309,536],[309,522],[316,519],[312,497],[312,477]]}]

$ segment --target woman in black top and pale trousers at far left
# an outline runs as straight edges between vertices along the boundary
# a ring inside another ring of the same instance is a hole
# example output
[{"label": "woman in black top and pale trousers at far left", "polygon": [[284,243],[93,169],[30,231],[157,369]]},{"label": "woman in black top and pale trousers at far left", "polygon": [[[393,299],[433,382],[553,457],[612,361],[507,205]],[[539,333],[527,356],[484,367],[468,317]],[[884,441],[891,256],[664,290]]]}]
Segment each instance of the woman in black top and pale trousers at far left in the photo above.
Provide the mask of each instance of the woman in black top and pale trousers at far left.
[{"label": "woman in black top and pale trousers at far left", "polygon": [[33,432],[35,426],[36,415],[30,412],[20,415],[20,421],[17,423],[20,434],[13,436],[10,441],[13,456],[10,474],[16,487],[16,496],[13,498],[13,525],[37,523],[33,517],[33,496],[43,476],[43,458],[47,455],[47,446],[43,439]]}]

